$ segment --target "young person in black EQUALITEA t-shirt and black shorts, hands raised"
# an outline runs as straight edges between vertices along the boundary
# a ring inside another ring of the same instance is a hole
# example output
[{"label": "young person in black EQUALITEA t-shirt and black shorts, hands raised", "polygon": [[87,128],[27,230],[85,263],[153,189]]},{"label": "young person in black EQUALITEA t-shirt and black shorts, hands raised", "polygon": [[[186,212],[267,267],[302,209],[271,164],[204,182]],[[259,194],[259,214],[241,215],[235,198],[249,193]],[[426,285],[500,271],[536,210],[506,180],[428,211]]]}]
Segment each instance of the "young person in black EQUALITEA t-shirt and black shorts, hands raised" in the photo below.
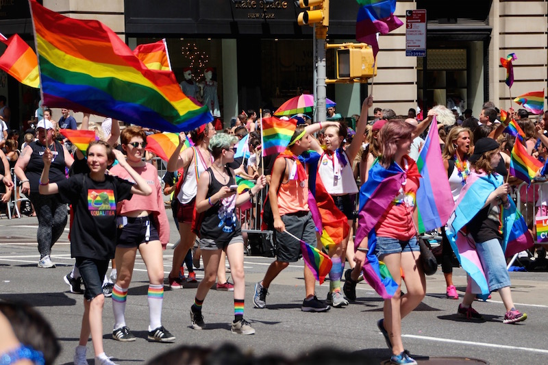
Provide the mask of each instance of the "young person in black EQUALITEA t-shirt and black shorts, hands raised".
[{"label": "young person in black EQUALITEA t-shirt and black shorts, hands raised", "polygon": [[[42,160],[44,170],[40,177],[40,194],[60,194],[62,201],[73,205],[74,222],[71,230],[71,256],[84,279],[84,318],[79,346],[74,355],[75,364],[88,364],[86,344],[91,334],[95,350],[95,364],[112,365],[103,351],[103,277],[108,262],[116,249],[116,203],[131,199],[132,194],[149,195],[151,187],[127,164],[123,154],[112,151],[106,142],[91,142],[88,150],[90,172],[77,174],[58,184],[49,183],[49,167],[53,154],[46,149]],[[105,175],[109,164],[116,158],[132,179],[129,181]]]}]

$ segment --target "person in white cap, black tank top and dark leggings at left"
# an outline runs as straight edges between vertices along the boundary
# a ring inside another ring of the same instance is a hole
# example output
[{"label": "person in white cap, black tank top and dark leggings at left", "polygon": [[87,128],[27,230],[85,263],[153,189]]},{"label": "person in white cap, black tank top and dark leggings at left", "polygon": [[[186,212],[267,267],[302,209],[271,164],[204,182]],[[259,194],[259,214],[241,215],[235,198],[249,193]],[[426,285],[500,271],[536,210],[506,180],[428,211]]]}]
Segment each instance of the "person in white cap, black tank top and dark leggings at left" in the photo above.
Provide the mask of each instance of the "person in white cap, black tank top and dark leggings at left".
[{"label": "person in white cap, black tank top and dark leggings at left", "polygon": [[53,125],[47,119],[42,119],[36,125],[38,140],[30,142],[17,159],[14,173],[21,184],[21,192],[25,194],[34,205],[38,216],[38,251],[40,260],[38,267],[54,268],[51,262],[51,248],[57,242],[64,231],[67,218],[66,205],[60,200],[58,194],[41,195],[38,192],[40,175],[44,168],[42,155],[49,149],[53,154],[49,179],[51,182],[60,182],[66,179],[65,167],[71,167],[74,159],[64,145],[54,140]]}]

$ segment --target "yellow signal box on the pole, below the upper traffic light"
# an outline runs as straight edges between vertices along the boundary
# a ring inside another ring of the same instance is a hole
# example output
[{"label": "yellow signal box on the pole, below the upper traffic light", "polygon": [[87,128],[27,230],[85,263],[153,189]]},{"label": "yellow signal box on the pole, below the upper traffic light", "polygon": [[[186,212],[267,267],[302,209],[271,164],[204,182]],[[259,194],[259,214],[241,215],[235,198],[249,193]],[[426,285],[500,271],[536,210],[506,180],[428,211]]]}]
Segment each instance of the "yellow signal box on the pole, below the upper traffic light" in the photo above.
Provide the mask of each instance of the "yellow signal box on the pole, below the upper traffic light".
[{"label": "yellow signal box on the pole, below the upper traffic light", "polygon": [[371,47],[342,47],[336,52],[337,79],[366,79],[377,75]]}]

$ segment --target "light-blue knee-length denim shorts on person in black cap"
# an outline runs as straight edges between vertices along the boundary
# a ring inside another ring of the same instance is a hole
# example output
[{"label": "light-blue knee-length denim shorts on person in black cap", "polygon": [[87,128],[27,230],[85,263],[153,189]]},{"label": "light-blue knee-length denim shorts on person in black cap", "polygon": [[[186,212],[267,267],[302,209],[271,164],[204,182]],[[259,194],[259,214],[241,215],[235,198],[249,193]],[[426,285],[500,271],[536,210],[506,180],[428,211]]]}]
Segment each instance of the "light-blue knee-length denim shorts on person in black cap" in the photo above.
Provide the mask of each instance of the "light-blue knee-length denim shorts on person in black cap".
[{"label": "light-blue knee-length denim shorts on person in black cap", "polygon": [[510,286],[510,275],[506,269],[506,258],[502,252],[501,242],[497,238],[475,244],[475,251],[482,263],[489,291]]}]

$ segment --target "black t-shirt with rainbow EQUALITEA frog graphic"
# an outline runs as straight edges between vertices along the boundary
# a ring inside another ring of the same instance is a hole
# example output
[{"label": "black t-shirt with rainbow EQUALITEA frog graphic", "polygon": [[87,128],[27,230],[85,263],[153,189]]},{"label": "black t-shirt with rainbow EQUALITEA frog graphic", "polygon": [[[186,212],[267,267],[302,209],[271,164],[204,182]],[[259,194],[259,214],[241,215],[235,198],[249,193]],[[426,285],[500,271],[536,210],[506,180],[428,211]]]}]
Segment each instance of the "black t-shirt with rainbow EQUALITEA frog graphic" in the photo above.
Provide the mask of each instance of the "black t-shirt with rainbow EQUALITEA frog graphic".
[{"label": "black t-shirt with rainbow EQUALITEA frog graphic", "polygon": [[77,174],[58,183],[62,201],[71,203],[71,257],[109,260],[116,250],[116,203],[132,199],[133,184],[116,176],[105,181]]}]

